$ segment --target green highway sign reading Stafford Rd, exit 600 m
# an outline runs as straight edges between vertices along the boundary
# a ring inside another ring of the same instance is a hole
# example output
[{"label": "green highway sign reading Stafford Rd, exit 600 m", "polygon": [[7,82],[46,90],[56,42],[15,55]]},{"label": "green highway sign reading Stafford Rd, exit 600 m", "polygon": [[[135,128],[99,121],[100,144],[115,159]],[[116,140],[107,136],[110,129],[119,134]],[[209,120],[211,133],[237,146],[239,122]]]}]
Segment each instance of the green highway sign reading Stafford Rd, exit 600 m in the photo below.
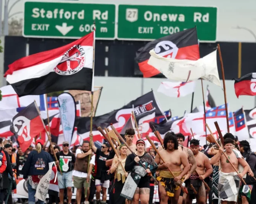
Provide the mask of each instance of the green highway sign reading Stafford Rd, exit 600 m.
[{"label": "green highway sign reading Stafford Rd, exit 600 m", "polygon": [[26,1],[24,37],[80,38],[93,31],[96,38],[115,39],[115,4]]}]

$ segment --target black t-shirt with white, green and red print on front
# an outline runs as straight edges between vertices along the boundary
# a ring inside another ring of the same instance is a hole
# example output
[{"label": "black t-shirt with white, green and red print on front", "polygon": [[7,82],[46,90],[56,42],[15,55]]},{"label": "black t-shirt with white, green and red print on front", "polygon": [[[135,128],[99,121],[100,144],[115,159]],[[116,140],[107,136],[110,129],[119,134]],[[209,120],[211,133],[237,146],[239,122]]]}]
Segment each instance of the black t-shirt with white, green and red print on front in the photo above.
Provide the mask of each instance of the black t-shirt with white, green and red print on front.
[{"label": "black t-shirt with white, green and red print on front", "polygon": [[69,151],[68,154],[64,154],[63,151],[60,151],[56,154],[56,157],[60,163],[61,172],[66,173],[73,170],[76,157],[72,152]]}]

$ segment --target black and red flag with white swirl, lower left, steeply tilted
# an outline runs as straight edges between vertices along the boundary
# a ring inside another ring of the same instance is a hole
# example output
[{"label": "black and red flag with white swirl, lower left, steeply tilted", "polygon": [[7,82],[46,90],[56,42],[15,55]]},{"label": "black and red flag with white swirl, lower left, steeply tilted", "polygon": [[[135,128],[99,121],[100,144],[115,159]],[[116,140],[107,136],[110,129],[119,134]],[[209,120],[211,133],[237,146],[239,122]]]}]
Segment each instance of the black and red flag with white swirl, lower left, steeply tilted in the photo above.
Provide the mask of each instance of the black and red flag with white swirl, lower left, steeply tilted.
[{"label": "black and red flag with white swirl, lower left, steeply tilted", "polygon": [[26,151],[31,145],[33,138],[44,129],[44,124],[37,111],[35,102],[13,117],[11,129],[17,135],[22,151]]}]

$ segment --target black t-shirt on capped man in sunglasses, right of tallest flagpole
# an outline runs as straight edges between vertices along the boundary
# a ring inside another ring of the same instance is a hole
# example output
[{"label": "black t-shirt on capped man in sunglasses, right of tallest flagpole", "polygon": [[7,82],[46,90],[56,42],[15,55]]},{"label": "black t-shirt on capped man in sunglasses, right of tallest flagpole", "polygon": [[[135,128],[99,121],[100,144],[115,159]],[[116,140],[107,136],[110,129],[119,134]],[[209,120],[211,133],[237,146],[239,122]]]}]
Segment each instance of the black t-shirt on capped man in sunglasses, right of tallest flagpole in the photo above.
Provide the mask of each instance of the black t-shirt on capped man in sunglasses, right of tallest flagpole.
[{"label": "black t-shirt on capped man in sunglasses, right of tallest flagpole", "polygon": [[95,179],[101,179],[102,172],[108,171],[108,167],[106,167],[106,159],[108,158],[109,154],[104,154],[100,148],[96,151],[96,163],[97,163],[97,172]]}]

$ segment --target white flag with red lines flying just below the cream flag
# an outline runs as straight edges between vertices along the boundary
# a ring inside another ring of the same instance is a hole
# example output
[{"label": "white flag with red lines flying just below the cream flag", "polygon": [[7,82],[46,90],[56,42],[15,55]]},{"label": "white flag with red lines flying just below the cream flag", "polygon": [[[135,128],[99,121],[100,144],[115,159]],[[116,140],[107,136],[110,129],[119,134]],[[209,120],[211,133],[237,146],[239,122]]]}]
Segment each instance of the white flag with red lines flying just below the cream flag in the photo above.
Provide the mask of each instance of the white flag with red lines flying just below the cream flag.
[{"label": "white flag with red lines flying just below the cream flag", "polygon": [[193,93],[196,88],[196,82],[161,82],[158,92],[170,97],[183,97]]}]

